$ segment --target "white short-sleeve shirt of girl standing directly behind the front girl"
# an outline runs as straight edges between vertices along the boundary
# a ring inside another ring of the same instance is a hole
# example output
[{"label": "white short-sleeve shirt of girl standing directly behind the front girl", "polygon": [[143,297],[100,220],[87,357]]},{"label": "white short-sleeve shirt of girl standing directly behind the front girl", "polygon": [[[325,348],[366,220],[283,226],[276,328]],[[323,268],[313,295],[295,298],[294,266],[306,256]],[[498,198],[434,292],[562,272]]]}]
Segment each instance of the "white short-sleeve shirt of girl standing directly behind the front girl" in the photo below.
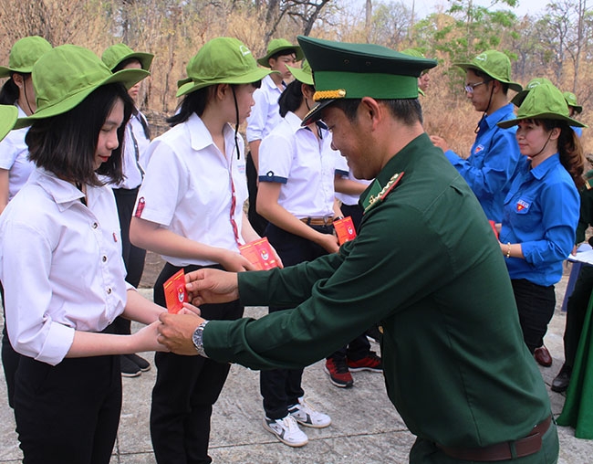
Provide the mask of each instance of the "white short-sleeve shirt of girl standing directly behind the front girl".
[{"label": "white short-sleeve shirt of girl standing directly behind the front girl", "polygon": [[[234,129],[224,127],[221,153],[203,121],[190,118],[154,139],[150,158],[136,201],[134,216],[160,224],[177,235],[211,247],[238,252],[231,224],[231,177],[233,175],[234,221],[241,233],[243,205],[247,199],[244,142]],[[214,263],[206,259],[163,256],[173,266]]]}]

